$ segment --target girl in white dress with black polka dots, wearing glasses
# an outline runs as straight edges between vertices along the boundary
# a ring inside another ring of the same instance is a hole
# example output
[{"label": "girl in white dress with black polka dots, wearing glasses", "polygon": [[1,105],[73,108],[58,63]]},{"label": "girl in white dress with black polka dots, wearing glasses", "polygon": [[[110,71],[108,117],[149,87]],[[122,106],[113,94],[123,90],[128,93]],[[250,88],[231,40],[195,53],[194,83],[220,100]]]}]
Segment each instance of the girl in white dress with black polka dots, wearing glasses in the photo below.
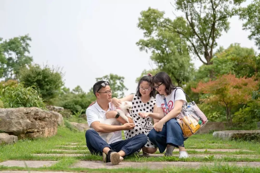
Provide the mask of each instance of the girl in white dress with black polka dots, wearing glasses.
[{"label": "girl in white dress with black polka dots, wearing glasses", "polygon": [[[112,103],[118,107],[122,101],[131,101],[133,103],[133,110],[131,116],[136,126],[132,130],[125,131],[125,139],[129,139],[138,134],[148,134],[153,129],[152,117],[140,117],[140,112],[153,112],[157,109],[154,99],[155,89],[152,87],[152,75],[142,77],[136,88],[136,94],[128,95],[122,99],[113,98]],[[141,150],[141,149],[140,149]],[[138,152],[140,152],[138,150]],[[156,146],[148,139],[145,146],[142,148],[143,155],[155,153]]]}]

